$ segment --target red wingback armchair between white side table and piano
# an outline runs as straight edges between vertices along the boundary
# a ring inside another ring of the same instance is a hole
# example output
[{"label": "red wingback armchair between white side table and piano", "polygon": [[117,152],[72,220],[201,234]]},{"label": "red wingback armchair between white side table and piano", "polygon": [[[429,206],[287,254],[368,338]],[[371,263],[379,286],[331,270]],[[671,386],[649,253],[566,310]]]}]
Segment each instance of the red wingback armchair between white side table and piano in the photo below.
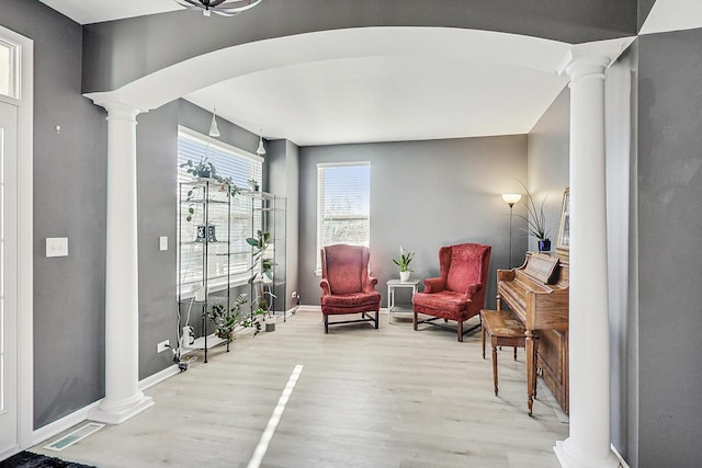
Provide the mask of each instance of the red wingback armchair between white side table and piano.
[{"label": "red wingback armchair between white side table and piano", "polygon": [[[465,333],[480,327],[478,323],[464,331],[463,322],[471,317],[479,317],[480,309],[485,308],[490,250],[490,246],[479,243],[461,243],[439,249],[441,276],[424,279],[424,290],[415,294],[412,299],[415,330],[419,323],[448,328],[433,321],[455,320],[458,341],[463,341]],[[418,321],[418,313],[432,318]]]}]

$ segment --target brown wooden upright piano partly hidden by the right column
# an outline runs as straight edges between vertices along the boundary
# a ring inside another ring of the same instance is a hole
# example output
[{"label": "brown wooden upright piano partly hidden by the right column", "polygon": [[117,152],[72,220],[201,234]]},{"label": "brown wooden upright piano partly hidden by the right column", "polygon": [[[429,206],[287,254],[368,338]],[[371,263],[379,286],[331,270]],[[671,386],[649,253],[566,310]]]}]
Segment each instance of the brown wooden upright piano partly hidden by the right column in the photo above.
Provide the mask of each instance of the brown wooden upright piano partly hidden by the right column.
[{"label": "brown wooden upright piano partly hidden by the right column", "polygon": [[568,262],[528,252],[524,264],[497,271],[497,309],[507,304],[526,330],[526,403],[532,413],[536,373],[566,414],[568,408]]}]

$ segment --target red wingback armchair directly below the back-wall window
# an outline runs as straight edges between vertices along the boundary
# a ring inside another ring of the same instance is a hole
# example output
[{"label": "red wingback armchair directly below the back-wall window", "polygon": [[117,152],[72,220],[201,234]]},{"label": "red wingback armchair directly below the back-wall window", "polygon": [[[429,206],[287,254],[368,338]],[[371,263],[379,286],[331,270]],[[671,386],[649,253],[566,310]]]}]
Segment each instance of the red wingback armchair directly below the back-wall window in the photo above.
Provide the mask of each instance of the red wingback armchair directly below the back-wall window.
[{"label": "red wingback armchair directly below the back-wall window", "polygon": [[[321,313],[325,333],[329,324],[373,322],[378,326],[381,294],[377,279],[369,274],[369,248],[362,246],[327,246],[321,248]],[[373,318],[369,312],[375,312]],[[329,316],[361,313],[356,320],[329,323]]]}]

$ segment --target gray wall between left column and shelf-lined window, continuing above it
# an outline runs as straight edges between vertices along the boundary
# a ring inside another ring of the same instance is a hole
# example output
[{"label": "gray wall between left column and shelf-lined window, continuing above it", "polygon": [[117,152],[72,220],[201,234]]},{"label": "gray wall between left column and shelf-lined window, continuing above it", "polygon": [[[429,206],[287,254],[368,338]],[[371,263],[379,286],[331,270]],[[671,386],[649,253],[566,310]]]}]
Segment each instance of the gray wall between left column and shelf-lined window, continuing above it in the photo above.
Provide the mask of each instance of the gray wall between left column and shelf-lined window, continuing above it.
[{"label": "gray wall between left column and shelf-lined window, continuing above it", "polygon": [[[139,378],[172,364],[172,354],[156,353],[156,344],[178,343],[177,298],[177,173],[178,125],[206,135],[212,113],[178,100],[137,117],[137,178],[139,236]],[[249,152],[258,147],[258,136],[218,117],[223,142]],[[159,250],[159,237],[167,236],[168,251]],[[234,288],[233,295],[248,293]],[[220,293],[225,294],[225,293]],[[191,324],[200,333],[193,313]]]}]

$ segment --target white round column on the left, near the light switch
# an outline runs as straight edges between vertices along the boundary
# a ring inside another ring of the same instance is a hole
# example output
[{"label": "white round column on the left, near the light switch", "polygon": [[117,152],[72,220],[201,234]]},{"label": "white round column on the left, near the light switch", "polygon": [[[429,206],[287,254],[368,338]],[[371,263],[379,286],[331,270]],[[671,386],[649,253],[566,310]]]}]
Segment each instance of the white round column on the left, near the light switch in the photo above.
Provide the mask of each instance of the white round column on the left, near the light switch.
[{"label": "white round column on the left, near the light switch", "polygon": [[107,111],[105,398],[89,419],[121,424],[154,400],[139,384],[136,116],[113,93],[89,95]]}]

